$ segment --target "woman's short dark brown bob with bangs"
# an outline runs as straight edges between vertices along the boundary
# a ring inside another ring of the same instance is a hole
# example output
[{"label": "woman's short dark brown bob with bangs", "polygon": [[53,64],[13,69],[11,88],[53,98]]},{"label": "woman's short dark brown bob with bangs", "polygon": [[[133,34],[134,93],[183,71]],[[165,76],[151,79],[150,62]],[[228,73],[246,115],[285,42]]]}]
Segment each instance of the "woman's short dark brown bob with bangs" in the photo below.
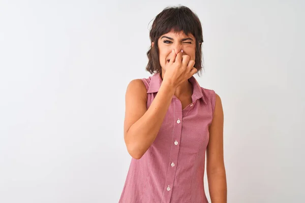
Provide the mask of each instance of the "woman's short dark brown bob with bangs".
[{"label": "woman's short dark brown bob with bangs", "polygon": [[[185,6],[166,7],[156,16],[149,31],[150,48],[146,53],[148,57],[146,71],[150,74],[161,72],[158,40],[162,35],[170,31],[184,31],[185,35],[188,36],[189,33],[192,33],[195,37],[196,56],[194,67],[197,69],[199,76],[199,72],[201,73],[201,69],[203,69],[203,56],[201,53],[201,45],[203,42],[202,27],[198,16]],[[154,47],[151,46],[152,42],[154,42]]]}]

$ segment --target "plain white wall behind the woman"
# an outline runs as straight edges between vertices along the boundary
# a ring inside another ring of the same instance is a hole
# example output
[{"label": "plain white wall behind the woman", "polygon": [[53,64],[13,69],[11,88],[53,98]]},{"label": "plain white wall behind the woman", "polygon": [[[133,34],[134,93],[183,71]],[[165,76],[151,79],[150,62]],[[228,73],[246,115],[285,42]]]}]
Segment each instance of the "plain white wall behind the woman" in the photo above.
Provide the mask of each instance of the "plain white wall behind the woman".
[{"label": "plain white wall behind the woman", "polygon": [[305,201],[304,1],[0,0],[0,202],[118,202],[126,87],[177,5],[222,98],[228,202]]}]

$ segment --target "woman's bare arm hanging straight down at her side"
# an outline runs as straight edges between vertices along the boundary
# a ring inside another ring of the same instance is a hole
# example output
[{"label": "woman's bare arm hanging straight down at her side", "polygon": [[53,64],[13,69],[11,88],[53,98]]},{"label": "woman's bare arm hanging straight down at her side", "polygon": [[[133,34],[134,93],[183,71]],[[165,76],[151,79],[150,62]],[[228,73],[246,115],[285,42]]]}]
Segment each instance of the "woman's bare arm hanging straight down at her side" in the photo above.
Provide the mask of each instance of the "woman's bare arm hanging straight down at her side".
[{"label": "woman's bare arm hanging straight down at her side", "polygon": [[227,181],[223,153],[224,113],[221,98],[216,94],[214,117],[209,127],[206,149],[206,172],[212,203],[227,202]]}]

